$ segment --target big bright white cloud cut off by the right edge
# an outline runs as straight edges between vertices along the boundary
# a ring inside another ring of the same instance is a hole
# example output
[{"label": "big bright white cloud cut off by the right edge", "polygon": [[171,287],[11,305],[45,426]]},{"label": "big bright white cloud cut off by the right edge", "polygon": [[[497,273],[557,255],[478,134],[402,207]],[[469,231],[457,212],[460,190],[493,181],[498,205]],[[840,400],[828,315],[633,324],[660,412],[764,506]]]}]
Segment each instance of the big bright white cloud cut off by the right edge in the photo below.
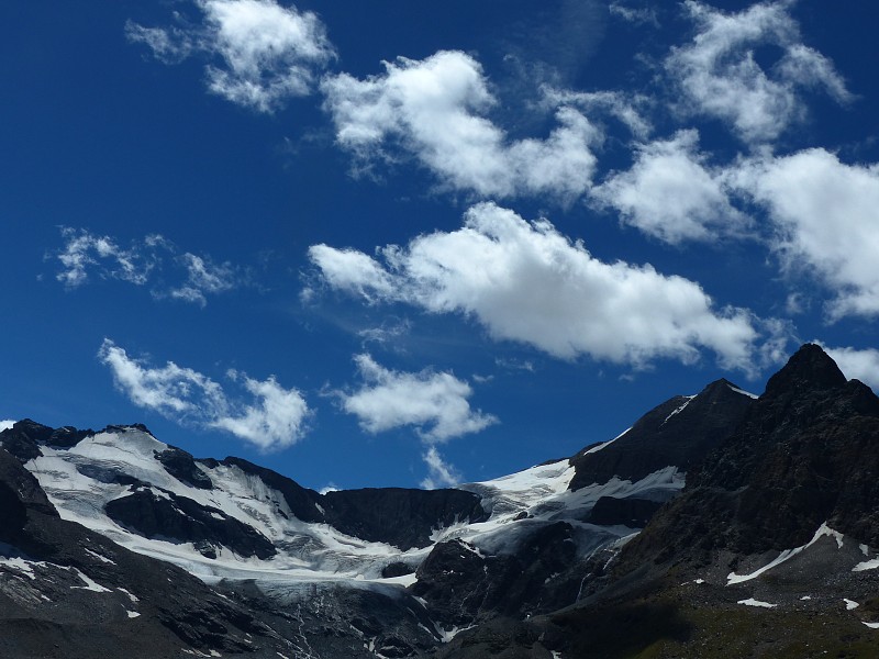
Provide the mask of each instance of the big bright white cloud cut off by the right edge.
[{"label": "big bright white cloud cut off by the right edge", "polygon": [[822,148],[742,164],[741,191],[765,205],[788,272],[832,291],[832,320],[879,315],[879,165],[846,165]]}]

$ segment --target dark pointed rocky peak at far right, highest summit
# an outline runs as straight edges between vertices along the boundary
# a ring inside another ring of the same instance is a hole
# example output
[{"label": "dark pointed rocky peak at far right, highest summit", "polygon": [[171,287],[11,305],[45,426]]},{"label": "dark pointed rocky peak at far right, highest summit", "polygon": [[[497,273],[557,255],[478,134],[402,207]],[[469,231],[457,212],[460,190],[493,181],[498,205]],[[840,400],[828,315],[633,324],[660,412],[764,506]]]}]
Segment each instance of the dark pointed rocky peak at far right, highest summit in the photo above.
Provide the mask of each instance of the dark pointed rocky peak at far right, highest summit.
[{"label": "dark pointed rocky peak at far right, highest summit", "polygon": [[819,346],[803,346],[626,548],[622,567],[797,547],[824,522],[879,544],[877,473],[879,399],[846,382]]}]

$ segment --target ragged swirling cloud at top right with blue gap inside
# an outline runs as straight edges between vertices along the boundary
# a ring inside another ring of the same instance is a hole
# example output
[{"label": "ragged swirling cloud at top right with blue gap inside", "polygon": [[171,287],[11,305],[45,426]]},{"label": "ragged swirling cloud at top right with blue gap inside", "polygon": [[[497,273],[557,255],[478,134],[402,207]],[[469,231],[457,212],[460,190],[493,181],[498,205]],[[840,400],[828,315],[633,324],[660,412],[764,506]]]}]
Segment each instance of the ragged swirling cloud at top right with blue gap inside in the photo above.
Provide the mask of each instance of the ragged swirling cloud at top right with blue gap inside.
[{"label": "ragged swirling cloud at top right with blue gap inside", "polygon": [[[763,144],[802,119],[803,89],[848,101],[850,94],[833,64],[801,43],[799,26],[788,13],[791,4],[760,2],[730,14],[687,0],[697,34],[691,43],[674,48],[665,65],[682,93],[680,109],[720,119],[746,143]],[[781,52],[769,69],[755,54],[765,46]]]}]

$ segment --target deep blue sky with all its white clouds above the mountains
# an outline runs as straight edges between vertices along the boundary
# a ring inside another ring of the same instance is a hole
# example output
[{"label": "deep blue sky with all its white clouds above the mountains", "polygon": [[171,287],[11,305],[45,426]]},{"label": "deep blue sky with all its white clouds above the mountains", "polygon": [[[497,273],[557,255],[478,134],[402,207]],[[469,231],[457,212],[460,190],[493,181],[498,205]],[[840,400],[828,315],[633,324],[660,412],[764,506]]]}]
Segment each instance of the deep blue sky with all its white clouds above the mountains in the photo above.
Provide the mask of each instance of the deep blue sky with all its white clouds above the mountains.
[{"label": "deep blue sky with all its white clouds above the mountains", "polygon": [[875,19],[4,3],[0,418],[442,487],[806,340],[876,388]]}]

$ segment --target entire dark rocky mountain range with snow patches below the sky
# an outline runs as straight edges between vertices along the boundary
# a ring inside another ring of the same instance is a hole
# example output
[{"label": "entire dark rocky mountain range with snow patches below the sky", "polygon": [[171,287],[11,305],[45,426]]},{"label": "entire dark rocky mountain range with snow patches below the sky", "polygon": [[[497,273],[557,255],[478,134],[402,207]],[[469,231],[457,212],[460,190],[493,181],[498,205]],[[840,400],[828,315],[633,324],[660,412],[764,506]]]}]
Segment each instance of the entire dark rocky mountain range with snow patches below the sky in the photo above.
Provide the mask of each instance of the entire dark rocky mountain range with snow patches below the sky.
[{"label": "entire dark rocky mountain range with snow patches below the sky", "polygon": [[446,490],[0,433],[0,656],[879,657],[879,399],[803,346]]}]

